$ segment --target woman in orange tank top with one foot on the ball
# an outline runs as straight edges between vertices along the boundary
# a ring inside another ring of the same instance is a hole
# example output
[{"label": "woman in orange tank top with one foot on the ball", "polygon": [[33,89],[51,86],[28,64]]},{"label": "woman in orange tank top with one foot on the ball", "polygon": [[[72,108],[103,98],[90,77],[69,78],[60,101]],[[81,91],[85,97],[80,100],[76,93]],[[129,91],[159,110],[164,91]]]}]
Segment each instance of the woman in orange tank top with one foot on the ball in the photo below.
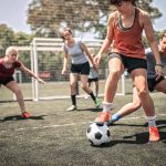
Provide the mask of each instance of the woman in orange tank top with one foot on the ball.
[{"label": "woman in orange tank top with one foot on the ball", "polygon": [[108,62],[110,75],[105,84],[103,113],[96,117],[95,122],[106,122],[111,118],[110,110],[116,93],[117,82],[124,70],[127,69],[147,116],[149,141],[158,141],[159,133],[155,124],[154,103],[147,87],[147,62],[142,43],[142,32],[145,30],[155,56],[155,72],[159,76],[162,74],[162,62],[151,19],[147,12],[135,6],[135,0],[111,0],[111,4],[115,6],[116,11],[110,14],[105,41],[94,59],[98,64],[102,54],[113,42]]}]

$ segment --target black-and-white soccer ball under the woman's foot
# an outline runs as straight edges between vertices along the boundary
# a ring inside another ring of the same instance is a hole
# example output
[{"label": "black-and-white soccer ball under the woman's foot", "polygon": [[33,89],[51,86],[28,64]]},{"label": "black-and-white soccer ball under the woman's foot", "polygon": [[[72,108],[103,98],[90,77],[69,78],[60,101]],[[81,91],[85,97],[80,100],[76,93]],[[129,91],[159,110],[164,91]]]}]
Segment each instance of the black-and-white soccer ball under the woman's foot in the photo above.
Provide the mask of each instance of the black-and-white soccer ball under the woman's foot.
[{"label": "black-and-white soccer ball under the woman's foot", "polygon": [[104,123],[94,122],[89,126],[86,137],[92,145],[100,146],[110,142],[111,133]]}]

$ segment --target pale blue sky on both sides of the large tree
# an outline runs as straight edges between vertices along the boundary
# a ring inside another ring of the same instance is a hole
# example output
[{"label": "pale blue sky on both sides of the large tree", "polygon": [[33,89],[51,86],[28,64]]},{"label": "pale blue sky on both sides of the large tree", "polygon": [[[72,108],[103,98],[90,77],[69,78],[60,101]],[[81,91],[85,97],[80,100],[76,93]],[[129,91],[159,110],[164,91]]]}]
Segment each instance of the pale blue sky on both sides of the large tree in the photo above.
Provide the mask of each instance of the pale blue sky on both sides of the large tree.
[{"label": "pale blue sky on both sides of the large tree", "polygon": [[[32,0],[0,0],[0,23],[6,23],[13,31],[30,33],[27,24],[28,4]],[[159,8],[163,17],[155,21],[154,29],[157,31],[166,29],[166,0],[154,0],[154,7]]]}]

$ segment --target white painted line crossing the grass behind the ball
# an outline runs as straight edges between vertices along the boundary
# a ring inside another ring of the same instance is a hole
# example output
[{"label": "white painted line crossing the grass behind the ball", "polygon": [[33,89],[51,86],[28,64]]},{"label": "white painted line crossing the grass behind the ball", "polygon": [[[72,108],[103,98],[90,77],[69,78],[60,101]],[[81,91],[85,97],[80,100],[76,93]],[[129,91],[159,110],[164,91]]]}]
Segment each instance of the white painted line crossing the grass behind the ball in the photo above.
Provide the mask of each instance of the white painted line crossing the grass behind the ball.
[{"label": "white painted line crossing the grass behind the ball", "polygon": [[[157,116],[166,116],[166,114],[157,114]],[[135,117],[124,117],[121,121],[128,121],[128,120],[137,120],[137,118],[145,118],[145,116],[135,116]],[[34,127],[25,127],[25,128],[15,128],[15,129],[6,129],[0,131],[0,134],[7,133],[7,132],[19,132],[19,131],[28,131],[28,129],[41,129],[41,128],[53,128],[53,127],[65,127],[65,126],[76,126],[76,125],[84,125],[84,124],[91,124],[93,122],[82,122],[82,123],[70,123],[70,124],[54,124],[54,125],[45,125],[45,126],[34,126]]]}]

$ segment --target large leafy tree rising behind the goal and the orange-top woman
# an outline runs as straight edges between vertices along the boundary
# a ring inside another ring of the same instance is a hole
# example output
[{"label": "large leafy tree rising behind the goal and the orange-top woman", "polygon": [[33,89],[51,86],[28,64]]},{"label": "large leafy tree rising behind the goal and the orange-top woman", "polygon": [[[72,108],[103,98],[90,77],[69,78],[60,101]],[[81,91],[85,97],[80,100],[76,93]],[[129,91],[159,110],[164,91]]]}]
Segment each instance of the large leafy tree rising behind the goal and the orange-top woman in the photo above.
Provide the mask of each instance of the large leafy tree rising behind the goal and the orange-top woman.
[{"label": "large leafy tree rising behind the goal and the orange-top woman", "polygon": [[[137,0],[152,19],[157,19],[162,13],[152,2]],[[59,37],[62,28],[70,27],[75,32],[92,32],[104,38],[106,20],[113,10],[108,0],[33,0],[29,4],[28,23],[37,37]]]}]

